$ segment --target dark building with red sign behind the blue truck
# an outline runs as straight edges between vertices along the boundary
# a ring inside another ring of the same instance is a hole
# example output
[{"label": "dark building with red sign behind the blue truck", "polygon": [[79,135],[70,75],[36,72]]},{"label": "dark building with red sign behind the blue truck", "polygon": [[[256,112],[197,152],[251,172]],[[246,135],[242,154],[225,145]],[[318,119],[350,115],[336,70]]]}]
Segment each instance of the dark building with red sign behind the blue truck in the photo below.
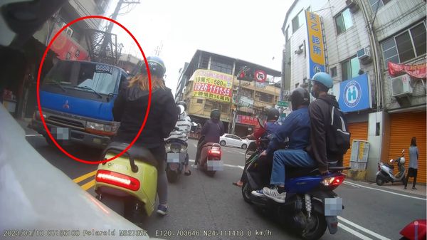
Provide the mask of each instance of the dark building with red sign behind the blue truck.
[{"label": "dark building with red sign behind the blue truck", "polygon": [[[36,109],[36,80],[46,46],[60,28],[74,19],[105,14],[110,0],[70,0],[61,6],[33,37],[23,44],[22,51],[2,49],[1,56],[9,63],[0,66],[0,89],[16,95],[16,106],[10,111],[16,118],[31,118]],[[100,19],[85,19],[65,29],[53,42],[43,62],[41,79],[51,69],[57,58],[63,60],[90,60],[85,39],[85,29],[102,30]],[[4,52],[3,52],[4,51]],[[3,79],[4,78],[4,79]],[[11,80],[13,79],[13,80]]]}]

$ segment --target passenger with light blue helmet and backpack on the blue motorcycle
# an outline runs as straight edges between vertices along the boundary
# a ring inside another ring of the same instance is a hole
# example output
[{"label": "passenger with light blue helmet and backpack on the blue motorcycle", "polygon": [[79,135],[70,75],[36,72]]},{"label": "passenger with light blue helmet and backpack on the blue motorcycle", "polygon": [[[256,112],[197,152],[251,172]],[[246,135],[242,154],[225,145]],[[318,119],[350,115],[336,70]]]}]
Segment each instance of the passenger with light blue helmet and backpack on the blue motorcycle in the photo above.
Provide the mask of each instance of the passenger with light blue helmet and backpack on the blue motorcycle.
[{"label": "passenger with light blue helmet and backpack on the blue motorcycle", "polygon": [[317,162],[320,174],[327,174],[328,165],[342,166],[343,156],[350,147],[350,133],[335,96],[327,93],[333,87],[331,76],[316,73],[312,83],[312,96],[316,100],[309,106],[311,132],[307,152]]}]

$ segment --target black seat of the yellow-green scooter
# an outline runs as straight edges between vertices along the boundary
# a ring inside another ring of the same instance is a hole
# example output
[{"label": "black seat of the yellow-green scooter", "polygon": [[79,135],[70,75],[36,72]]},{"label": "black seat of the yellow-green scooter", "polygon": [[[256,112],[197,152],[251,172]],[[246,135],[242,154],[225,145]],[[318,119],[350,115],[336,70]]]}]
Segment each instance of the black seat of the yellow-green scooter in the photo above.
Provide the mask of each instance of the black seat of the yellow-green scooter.
[{"label": "black seat of the yellow-green scooter", "polygon": [[[110,142],[110,144],[107,145],[107,147],[103,151],[102,157],[105,156],[106,152],[120,153],[123,150],[125,150],[127,146],[128,146],[127,143],[123,143],[123,142]],[[127,153],[134,160],[140,160],[142,162],[146,162],[149,165],[157,167],[157,160],[154,158],[152,153],[145,147],[139,147],[139,146],[133,145],[132,147],[130,147],[129,150],[127,150]]]}]

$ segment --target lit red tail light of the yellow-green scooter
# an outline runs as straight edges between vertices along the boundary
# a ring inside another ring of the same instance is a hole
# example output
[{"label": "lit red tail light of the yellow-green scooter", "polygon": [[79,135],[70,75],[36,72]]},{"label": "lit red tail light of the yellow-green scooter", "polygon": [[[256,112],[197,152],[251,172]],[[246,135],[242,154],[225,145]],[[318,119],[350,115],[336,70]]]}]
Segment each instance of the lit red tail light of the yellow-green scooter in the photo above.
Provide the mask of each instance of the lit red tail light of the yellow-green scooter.
[{"label": "lit red tail light of the yellow-green scooter", "polygon": [[95,179],[97,182],[112,184],[132,191],[137,191],[140,187],[140,182],[135,177],[108,170],[97,170]]}]

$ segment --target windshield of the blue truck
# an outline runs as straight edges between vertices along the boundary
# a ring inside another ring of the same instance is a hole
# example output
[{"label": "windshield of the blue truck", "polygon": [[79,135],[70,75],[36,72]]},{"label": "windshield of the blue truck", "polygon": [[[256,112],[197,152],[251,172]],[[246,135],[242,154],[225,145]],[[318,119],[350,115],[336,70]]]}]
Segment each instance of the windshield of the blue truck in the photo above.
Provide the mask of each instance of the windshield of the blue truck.
[{"label": "windshield of the blue truck", "polygon": [[117,68],[102,63],[60,61],[46,75],[43,85],[108,95],[115,93],[119,73]]}]

